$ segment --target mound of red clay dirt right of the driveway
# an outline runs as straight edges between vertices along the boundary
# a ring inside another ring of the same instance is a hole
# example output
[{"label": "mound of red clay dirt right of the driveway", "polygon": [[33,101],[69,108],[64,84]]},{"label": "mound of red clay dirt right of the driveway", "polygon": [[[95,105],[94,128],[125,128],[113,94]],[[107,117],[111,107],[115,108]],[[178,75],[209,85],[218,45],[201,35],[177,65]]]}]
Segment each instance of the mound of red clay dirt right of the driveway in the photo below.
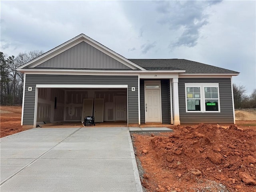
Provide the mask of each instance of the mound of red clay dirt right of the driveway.
[{"label": "mound of red clay dirt right of the driveway", "polygon": [[133,134],[148,192],[255,192],[256,131],[209,124]]}]

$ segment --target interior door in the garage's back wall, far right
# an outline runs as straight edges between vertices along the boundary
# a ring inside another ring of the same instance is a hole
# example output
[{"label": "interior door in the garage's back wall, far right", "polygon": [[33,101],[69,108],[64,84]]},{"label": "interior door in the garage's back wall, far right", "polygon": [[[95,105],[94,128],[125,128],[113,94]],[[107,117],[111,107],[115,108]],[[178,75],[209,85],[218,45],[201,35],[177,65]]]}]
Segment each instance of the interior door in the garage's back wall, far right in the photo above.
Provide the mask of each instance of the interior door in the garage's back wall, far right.
[{"label": "interior door in the garage's back wall, far right", "polygon": [[126,121],[126,96],[116,96],[116,121]]}]

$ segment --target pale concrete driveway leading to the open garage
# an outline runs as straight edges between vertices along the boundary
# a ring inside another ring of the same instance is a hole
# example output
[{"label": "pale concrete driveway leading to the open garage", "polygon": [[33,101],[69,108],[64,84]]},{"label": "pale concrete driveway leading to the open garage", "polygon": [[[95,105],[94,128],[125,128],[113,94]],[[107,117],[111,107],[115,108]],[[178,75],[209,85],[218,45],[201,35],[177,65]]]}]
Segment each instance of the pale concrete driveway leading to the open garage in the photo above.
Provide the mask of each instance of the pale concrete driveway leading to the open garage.
[{"label": "pale concrete driveway leading to the open garage", "polygon": [[142,192],[127,127],[33,128],[0,142],[1,192]]}]

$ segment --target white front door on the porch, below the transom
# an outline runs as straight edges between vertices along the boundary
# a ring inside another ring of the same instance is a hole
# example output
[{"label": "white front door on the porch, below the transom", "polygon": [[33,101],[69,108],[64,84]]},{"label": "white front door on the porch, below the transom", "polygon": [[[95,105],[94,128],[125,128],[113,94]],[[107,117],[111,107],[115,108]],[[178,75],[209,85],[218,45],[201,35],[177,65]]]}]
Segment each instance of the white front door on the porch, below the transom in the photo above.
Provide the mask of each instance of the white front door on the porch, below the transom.
[{"label": "white front door on the porch, below the transom", "polygon": [[146,122],[161,122],[160,89],[145,89]]}]

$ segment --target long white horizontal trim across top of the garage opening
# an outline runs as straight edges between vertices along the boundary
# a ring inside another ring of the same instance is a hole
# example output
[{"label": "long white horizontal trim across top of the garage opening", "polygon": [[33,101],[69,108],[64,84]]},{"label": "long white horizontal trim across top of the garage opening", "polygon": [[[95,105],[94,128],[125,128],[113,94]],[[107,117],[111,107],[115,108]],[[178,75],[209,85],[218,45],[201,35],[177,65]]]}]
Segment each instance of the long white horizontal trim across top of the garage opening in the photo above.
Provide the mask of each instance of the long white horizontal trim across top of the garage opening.
[{"label": "long white horizontal trim across top of the garage opening", "polygon": [[36,88],[128,88],[128,85],[36,84]]}]

